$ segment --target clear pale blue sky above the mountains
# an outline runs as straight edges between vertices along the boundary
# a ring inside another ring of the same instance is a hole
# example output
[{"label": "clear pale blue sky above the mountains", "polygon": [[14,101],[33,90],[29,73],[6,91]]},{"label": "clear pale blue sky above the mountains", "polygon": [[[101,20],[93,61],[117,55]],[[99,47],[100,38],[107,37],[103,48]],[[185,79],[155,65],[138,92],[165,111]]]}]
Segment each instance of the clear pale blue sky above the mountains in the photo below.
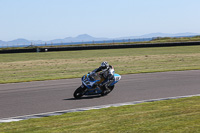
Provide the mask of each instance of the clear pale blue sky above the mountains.
[{"label": "clear pale blue sky above the mountains", "polygon": [[0,40],[200,33],[200,0],[0,0]]}]

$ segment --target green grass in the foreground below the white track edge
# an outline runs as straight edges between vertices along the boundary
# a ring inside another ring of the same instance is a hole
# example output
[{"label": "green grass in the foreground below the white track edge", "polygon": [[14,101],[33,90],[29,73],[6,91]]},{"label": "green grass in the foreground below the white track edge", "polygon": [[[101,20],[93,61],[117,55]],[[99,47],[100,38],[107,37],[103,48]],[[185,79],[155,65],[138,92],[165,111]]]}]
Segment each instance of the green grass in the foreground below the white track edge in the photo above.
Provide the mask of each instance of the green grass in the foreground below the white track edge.
[{"label": "green grass in the foreground below the white track edge", "polygon": [[200,132],[200,97],[157,101],[1,123],[1,133]]}]

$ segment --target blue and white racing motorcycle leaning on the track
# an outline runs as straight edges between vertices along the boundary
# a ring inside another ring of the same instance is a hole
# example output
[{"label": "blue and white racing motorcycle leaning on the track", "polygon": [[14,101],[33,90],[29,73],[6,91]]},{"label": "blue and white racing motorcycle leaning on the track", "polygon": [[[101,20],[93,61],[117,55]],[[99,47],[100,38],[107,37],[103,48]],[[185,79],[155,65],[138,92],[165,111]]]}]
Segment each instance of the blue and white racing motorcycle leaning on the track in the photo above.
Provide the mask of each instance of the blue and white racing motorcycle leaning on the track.
[{"label": "blue and white racing motorcycle leaning on the track", "polygon": [[121,76],[117,73],[114,73],[114,69],[112,71],[114,75],[113,82],[108,86],[109,91],[106,93],[102,90],[105,90],[105,86],[99,86],[100,83],[106,82],[101,73],[88,73],[84,75],[82,80],[82,85],[78,87],[74,92],[74,98],[80,99],[83,95],[101,95],[105,96],[109,94],[113,89],[115,84],[121,79]]}]

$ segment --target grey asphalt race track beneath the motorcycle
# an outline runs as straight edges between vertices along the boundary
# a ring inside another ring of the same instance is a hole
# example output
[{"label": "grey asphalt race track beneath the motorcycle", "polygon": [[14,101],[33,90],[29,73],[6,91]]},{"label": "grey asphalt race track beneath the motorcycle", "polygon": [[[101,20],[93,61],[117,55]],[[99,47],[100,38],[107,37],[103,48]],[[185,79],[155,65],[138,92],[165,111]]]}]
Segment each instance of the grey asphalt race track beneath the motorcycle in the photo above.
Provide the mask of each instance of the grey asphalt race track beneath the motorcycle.
[{"label": "grey asphalt race track beneath the motorcycle", "polygon": [[108,96],[73,98],[80,79],[0,84],[0,119],[106,104],[200,94],[200,70],[122,75]]}]

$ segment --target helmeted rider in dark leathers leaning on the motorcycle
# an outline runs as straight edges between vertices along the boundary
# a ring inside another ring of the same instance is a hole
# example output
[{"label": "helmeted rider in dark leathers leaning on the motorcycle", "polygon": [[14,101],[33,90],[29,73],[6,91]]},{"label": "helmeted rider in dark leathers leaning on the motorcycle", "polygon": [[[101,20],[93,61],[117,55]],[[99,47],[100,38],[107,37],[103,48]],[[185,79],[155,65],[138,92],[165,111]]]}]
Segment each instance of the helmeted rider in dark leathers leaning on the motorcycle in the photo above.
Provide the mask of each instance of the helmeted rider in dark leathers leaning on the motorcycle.
[{"label": "helmeted rider in dark leathers leaning on the motorcycle", "polygon": [[108,62],[106,61],[102,62],[99,68],[92,71],[92,73],[100,72],[100,75],[105,79],[102,83],[99,84],[104,94],[110,91],[108,86],[114,80],[113,71],[114,71],[114,68],[111,65],[109,65]]}]

